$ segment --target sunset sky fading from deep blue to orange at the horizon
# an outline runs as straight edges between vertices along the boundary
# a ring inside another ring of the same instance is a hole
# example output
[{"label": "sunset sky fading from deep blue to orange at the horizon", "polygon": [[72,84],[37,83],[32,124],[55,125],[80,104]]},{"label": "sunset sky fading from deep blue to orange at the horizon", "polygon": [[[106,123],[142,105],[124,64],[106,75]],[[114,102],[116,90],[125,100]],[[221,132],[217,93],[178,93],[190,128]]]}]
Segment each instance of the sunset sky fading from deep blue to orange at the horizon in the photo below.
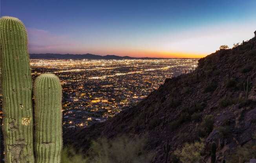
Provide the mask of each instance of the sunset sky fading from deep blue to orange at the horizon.
[{"label": "sunset sky fading from deep blue to orange at the horizon", "polygon": [[201,58],[256,30],[256,0],[0,0],[29,53]]}]

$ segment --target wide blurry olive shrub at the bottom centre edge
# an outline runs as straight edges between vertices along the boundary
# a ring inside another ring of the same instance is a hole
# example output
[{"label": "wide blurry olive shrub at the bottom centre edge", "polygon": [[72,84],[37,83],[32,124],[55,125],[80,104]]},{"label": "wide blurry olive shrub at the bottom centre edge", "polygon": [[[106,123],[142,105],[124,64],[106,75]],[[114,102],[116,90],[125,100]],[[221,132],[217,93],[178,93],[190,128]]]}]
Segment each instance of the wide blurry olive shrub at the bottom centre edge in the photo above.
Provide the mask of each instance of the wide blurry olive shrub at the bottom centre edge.
[{"label": "wide blurry olive shrub at the bottom centre edge", "polygon": [[91,144],[90,163],[150,163],[153,155],[144,149],[146,142],[145,137],[139,136],[97,139]]}]

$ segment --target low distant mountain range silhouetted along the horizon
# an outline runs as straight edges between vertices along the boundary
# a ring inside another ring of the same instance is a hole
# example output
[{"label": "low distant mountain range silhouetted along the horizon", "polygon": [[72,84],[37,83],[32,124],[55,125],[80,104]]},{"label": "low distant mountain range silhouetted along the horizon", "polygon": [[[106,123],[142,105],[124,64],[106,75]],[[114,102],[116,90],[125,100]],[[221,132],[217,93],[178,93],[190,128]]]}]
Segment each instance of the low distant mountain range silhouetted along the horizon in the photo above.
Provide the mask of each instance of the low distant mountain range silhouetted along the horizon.
[{"label": "low distant mountain range silhouetted along the horizon", "polygon": [[[116,56],[116,55],[95,55],[95,54],[30,54],[31,59],[90,59],[90,60],[122,60],[122,59],[160,59],[160,58],[135,58],[130,56]],[[163,59],[163,58],[162,58]]]}]

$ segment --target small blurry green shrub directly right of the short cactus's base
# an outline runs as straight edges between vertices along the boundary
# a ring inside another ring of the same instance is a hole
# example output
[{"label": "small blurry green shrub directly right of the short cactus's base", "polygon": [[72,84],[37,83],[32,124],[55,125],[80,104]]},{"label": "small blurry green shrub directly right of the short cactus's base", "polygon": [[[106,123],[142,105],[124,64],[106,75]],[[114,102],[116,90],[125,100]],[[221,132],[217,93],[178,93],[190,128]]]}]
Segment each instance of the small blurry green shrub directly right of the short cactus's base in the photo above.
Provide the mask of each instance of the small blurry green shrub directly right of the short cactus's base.
[{"label": "small blurry green shrub directly right of the short cactus's base", "polygon": [[61,154],[61,163],[89,163],[82,152],[77,152],[71,146],[64,147]]}]

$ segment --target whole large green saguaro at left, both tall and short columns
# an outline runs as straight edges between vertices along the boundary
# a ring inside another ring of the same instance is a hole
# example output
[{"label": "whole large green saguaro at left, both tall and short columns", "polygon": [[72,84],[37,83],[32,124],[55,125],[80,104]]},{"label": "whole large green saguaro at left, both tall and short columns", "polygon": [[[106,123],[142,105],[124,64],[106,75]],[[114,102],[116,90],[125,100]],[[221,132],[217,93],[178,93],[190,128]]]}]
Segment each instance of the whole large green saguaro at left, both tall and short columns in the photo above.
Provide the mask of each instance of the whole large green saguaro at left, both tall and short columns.
[{"label": "whole large green saguaro at left, both tall and short columns", "polygon": [[[6,163],[34,163],[32,80],[27,33],[17,18],[0,19],[0,70]],[[35,89],[37,163],[59,163],[62,150],[62,88],[54,74],[42,74]]]}]

